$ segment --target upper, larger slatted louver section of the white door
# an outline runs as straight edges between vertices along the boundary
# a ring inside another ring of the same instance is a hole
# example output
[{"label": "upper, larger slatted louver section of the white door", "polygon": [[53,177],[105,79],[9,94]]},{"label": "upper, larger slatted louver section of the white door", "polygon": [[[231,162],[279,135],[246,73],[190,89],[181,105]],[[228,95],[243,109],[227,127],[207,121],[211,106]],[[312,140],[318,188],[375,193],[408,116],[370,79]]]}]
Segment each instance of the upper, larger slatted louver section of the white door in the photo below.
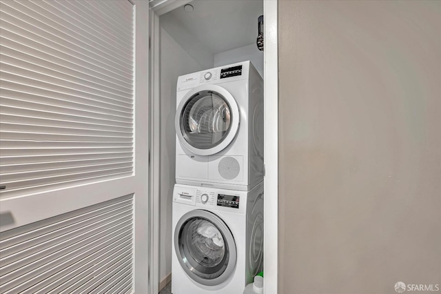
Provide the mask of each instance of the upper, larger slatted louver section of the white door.
[{"label": "upper, larger slatted louver section of the white door", "polygon": [[129,1],[2,1],[0,198],[133,175]]}]

